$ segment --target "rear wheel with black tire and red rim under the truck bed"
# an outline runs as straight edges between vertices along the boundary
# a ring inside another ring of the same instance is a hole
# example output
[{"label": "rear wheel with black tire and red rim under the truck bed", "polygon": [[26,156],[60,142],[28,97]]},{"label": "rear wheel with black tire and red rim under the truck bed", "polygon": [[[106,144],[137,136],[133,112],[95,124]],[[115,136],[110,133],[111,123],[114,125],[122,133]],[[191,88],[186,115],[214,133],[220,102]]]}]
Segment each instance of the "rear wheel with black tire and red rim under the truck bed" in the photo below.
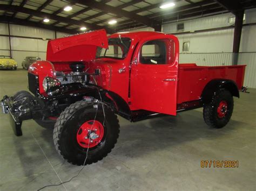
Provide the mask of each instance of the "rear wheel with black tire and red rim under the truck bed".
[{"label": "rear wheel with black tire and red rim under the truck bed", "polygon": [[203,116],[205,123],[211,128],[223,128],[232,116],[234,107],[230,91],[220,89],[212,98],[211,103],[204,105]]}]

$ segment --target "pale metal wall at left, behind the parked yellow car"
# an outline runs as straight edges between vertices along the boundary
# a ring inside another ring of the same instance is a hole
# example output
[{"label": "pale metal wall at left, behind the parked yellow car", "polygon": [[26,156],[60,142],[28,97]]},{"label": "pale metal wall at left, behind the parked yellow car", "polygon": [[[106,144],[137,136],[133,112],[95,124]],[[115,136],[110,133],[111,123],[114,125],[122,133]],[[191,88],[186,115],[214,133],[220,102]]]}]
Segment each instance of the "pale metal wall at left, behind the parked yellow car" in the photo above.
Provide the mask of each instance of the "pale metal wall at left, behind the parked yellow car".
[{"label": "pale metal wall at left, behind the parked yellow car", "polygon": [[[8,24],[0,23],[0,34],[8,35]],[[26,56],[39,56],[46,58],[48,40],[55,38],[55,31],[44,30],[29,26],[10,24],[12,57],[17,61],[18,67],[22,68],[22,61]],[[57,32],[57,38],[67,35]],[[28,38],[20,38],[28,37]],[[40,38],[40,39],[38,39]],[[10,55],[9,38],[0,36],[0,55]]]}]

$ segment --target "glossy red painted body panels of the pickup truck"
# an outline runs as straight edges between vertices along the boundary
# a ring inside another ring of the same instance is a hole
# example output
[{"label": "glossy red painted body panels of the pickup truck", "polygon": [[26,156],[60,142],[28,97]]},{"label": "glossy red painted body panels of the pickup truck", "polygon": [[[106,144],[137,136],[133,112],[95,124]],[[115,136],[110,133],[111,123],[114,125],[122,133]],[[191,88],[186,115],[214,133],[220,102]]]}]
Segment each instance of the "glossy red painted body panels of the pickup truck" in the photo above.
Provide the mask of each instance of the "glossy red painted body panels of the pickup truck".
[{"label": "glossy red painted body panels of the pickup truck", "polygon": [[[81,37],[80,37],[81,36]],[[45,76],[55,76],[56,71],[70,72],[71,61],[83,61],[87,72],[94,73],[98,86],[120,95],[131,110],[150,110],[164,114],[176,115],[177,104],[199,100],[204,87],[213,79],[229,79],[241,88],[244,82],[245,65],[205,67],[196,63],[178,64],[179,41],[177,37],[160,32],[121,32],[108,38],[130,38],[131,45],[125,59],[100,58],[94,59],[96,47],[106,47],[106,34],[103,30],[80,34],[68,38],[49,41],[48,61],[33,63],[34,71],[39,75],[40,93],[43,93],[42,82]],[[89,37],[95,37],[93,39]],[[97,38],[96,38],[97,37]],[[79,39],[84,39],[81,42]],[[166,40],[168,56],[166,65],[131,64],[139,58],[142,45],[153,39]],[[103,44],[104,46],[103,46]],[[92,47],[93,46],[93,47]],[[118,70],[124,68],[125,72]],[[131,69],[130,97],[129,73]],[[174,81],[163,81],[174,79]],[[91,77],[91,80],[92,77]]]}]

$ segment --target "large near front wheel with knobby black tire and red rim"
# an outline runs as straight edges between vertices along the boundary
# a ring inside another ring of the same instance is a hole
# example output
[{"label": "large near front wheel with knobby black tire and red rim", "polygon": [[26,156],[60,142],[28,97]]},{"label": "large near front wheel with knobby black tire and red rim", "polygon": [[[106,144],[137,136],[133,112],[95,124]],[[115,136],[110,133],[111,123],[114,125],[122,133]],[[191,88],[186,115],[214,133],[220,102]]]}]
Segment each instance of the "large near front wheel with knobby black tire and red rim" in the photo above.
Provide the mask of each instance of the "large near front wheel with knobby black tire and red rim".
[{"label": "large near front wheel with knobby black tire and red rim", "polygon": [[[104,111],[105,117],[102,104],[97,109],[93,103],[78,101],[60,114],[53,130],[53,142],[65,160],[73,165],[84,165],[88,150],[86,165],[110,153],[117,143],[120,126],[117,115],[110,108],[104,106]],[[98,138],[89,143],[93,132]]]}]

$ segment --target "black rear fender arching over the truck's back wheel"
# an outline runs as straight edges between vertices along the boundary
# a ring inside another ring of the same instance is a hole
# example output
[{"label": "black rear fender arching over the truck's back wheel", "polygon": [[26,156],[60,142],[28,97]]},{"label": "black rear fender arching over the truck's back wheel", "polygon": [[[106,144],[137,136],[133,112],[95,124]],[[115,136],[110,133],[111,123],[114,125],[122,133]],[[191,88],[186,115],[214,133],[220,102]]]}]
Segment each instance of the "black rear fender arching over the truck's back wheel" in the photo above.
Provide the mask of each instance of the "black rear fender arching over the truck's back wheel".
[{"label": "black rear fender arching over the truck's back wheel", "polygon": [[221,88],[225,88],[230,91],[232,96],[239,98],[239,89],[233,80],[214,79],[206,84],[203,93],[201,94],[203,103],[210,103],[212,101],[212,96]]}]

